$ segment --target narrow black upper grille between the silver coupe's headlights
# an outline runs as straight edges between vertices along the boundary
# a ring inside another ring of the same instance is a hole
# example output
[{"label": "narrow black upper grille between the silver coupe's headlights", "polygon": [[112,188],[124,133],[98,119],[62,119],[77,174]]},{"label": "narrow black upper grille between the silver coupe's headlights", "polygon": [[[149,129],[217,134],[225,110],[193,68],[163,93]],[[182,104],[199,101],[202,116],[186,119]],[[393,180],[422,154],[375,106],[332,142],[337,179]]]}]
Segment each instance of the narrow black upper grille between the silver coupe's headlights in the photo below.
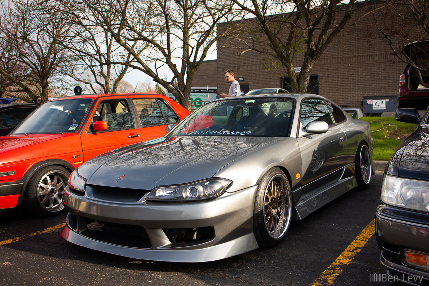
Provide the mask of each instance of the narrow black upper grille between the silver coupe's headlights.
[{"label": "narrow black upper grille between the silver coupe's headlights", "polygon": [[115,201],[124,203],[136,203],[150,190],[115,188],[109,186],[87,185],[87,190],[92,191],[94,198],[103,201]]}]

